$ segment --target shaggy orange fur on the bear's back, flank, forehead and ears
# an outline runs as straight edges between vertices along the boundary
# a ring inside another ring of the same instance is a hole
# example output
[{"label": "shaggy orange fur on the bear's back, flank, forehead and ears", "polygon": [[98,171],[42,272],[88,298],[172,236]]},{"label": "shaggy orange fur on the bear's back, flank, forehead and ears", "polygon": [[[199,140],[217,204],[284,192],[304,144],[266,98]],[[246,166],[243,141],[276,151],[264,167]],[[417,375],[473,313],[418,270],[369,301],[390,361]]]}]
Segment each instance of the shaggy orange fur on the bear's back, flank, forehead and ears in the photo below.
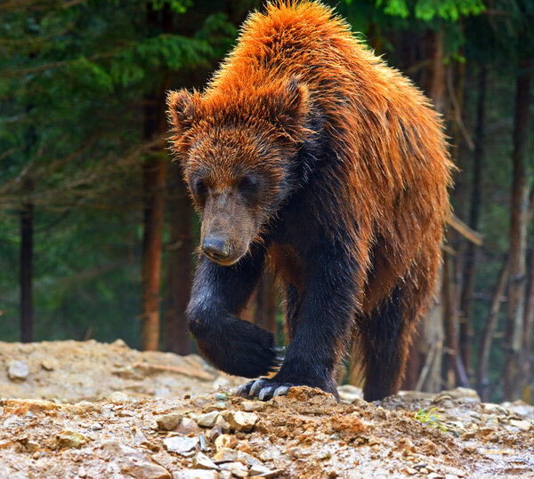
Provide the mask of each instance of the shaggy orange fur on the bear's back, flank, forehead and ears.
[{"label": "shaggy orange fur on the bear's back, flank, forehead and ears", "polygon": [[[294,88],[287,86],[291,78]],[[255,135],[270,138],[279,147],[276,155],[294,156],[316,134],[305,126],[312,111],[326,112],[322,134],[336,154],[316,192],[330,214],[318,220],[332,238],[343,236],[344,249],[358,264],[346,272],[356,285],[357,334],[364,350],[372,346],[368,324],[400,289],[408,316],[400,339],[404,364],[416,319],[433,293],[452,168],[441,119],[409,79],[387,67],[328,7],[268,4],[249,16],[205,92],[169,96],[174,152],[182,158],[211,155],[198,139],[230,123],[230,130],[218,133],[221,145],[233,142],[240,162],[281,177],[279,163],[255,153]],[[220,148],[219,169],[212,174],[231,181],[228,172],[238,160]],[[184,161],[186,178],[196,166]],[[276,194],[270,191],[265,202]],[[287,283],[299,283],[299,259],[282,250],[271,245],[275,268]],[[389,389],[400,381],[392,378]]]}]

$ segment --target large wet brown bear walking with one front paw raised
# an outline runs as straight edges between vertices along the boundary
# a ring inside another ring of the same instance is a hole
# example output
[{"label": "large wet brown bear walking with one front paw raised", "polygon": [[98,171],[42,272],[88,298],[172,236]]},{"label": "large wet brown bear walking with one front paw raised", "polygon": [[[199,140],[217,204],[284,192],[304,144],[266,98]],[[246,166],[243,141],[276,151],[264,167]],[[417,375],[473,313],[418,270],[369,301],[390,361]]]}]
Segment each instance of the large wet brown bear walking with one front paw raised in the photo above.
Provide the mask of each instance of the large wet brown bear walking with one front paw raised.
[{"label": "large wet brown bear walking with one front paw raised", "polygon": [[[450,183],[425,96],[313,1],[268,4],[206,91],[170,92],[172,148],[202,220],[188,317],[208,361],[336,395],[355,338],[368,401],[400,387],[439,267]],[[263,267],[285,292],[288,346],[239,319]]]}]

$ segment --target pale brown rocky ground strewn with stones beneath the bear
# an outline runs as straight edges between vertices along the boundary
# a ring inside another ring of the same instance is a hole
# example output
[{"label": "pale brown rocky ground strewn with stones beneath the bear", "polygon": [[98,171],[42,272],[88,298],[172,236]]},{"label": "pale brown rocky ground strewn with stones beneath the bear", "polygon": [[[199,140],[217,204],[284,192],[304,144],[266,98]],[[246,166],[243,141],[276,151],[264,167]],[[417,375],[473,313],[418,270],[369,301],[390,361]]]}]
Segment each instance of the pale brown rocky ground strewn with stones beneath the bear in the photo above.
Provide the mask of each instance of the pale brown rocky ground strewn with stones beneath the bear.
[{"label": "pale brown rocky ground strewn with stones beneath the bear", "polygon": [[195,355],[0,342],[0,478],[534,477],[534,408],[469,389],[267,403]]}]

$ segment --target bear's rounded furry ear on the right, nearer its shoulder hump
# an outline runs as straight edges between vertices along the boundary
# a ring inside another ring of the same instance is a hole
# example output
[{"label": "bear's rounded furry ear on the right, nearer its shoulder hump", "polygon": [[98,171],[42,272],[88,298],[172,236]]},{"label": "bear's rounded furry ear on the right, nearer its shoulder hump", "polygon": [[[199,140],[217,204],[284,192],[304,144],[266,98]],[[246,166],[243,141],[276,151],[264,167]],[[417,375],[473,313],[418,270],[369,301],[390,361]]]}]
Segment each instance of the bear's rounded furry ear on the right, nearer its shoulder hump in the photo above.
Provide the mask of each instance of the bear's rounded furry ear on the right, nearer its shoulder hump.
[{"label": "bear's rounded furry ear on the right, nearer its shoulder hump", "polygon": [[292,141],[302,141],[306,132],[306,116],[310,111],[310,95],[305,84],[296,76],[282,84],[274,101],[273,123],[283,136]]}]

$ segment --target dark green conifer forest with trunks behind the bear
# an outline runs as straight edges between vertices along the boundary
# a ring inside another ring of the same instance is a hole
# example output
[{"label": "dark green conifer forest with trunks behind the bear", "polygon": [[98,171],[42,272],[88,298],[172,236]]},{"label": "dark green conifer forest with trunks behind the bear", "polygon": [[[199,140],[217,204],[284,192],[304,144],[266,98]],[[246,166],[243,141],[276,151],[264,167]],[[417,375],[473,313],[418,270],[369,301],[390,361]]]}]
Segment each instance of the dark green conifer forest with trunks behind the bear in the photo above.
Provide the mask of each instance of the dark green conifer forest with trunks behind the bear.
[{"label": "dark green conifer forest with trunks behind the bear", "polygon": [[[404,388],[534,390],[534,2],[328,2],[433,100],[458,167],[441,283]],[[259,0],[0,4],[0,340],[194,351],[198,219],[166,135]],[[283,342],[266,272],[245,312]],[[347,359],[340,379],[358,383]]]}]

